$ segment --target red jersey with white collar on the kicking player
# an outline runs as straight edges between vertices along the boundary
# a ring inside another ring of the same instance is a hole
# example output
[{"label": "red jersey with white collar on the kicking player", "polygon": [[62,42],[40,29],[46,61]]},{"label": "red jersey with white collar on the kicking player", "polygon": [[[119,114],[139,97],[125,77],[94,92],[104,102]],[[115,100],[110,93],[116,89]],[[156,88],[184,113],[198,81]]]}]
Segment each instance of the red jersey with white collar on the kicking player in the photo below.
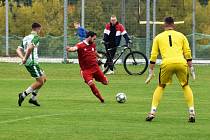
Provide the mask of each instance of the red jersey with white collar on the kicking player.
[{"label": "red jersey with white collar on the kicking player", "polygon": [[88,44],[85,40],[76,45],[79,65],[82,71],[98,67],[96,44]]}]

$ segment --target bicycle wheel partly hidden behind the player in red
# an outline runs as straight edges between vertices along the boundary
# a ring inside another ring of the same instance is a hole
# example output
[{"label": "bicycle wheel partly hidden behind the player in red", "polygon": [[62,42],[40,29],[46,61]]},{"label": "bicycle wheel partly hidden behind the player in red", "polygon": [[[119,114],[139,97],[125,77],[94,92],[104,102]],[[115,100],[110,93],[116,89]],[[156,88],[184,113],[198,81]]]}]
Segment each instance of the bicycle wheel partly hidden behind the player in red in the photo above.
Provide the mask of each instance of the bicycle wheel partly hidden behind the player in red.
[{"label": "bicycle wheel partly hidden behind the player in red", "polygon": [[98,65],[103,71],[103,73],[105,74],[109,70],[109,67],[110,67],[109,65],[107,65],[106,67],[104,66],[107,61],[107,54],[102,51],[98,51],[98,54],[102,56],[98,58]]}]

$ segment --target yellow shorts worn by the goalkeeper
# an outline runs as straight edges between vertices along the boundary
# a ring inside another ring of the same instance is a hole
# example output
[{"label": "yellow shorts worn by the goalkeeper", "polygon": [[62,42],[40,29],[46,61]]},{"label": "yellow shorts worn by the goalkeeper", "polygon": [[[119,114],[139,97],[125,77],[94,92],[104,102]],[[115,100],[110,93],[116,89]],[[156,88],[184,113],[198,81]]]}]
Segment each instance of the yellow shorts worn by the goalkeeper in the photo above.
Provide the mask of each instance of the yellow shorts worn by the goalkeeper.
[{"label": "yellow shorts worn by the goalkeeper", "polygon": [[174,74],[181,86],[188,85],[189,70],[187,64],[183,63],[162,65],[159,73],[159,84],[171,84]]}]

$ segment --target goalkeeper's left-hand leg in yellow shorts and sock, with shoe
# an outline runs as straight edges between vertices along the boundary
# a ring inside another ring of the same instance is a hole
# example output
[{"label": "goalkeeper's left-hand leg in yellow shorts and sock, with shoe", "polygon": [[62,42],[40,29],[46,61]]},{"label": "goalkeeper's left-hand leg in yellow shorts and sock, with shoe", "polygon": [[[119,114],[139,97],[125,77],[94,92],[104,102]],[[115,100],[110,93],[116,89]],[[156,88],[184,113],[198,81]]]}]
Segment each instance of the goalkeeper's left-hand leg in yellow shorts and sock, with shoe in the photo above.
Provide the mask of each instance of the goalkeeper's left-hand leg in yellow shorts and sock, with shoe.
[{"label": "goalkeeper's left-hand leg in yellow shorts and sock, with shoe", "polygon": [[155,118],[155,114],[157,112],[157,107],[160,103],[160,100],[163,95],[163,91],[166,87],[166,84],[172,82],[172,76],[173,76],[173,68],[170,66],[165,66],[160,69],[159,73],[159,85],[155,89],[153,93],[153,98],[152,98],[152,105],[151,105],[151,111],[148,114],[146,121],[152,121],[152,119]]}]

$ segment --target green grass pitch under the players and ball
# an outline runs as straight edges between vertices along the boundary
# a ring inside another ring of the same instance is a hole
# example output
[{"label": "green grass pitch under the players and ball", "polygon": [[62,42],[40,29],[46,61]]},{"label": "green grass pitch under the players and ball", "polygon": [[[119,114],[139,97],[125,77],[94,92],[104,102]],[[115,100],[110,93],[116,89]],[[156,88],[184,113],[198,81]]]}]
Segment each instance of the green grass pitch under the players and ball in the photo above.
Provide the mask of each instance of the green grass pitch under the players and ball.
[{"label": "green grass pitch under the players and ball", "polygon": [[[97,83],[105,104],[92,95],[76,64],[41,64],[48,81],[39,91],[41,107],[27,98],[22,107],[17,95],[34,80],[23,66],[0,63],[0,140],[207,140],[210,137],[210,67],[196,66],[191,81],[196,123],[188,123],[187,105],[174,77],[164,92],[153,122],[145,122],[150,111],[156,76],[144,84],[146,74],[129,76],[122,66],[108,76],[109,85]],[[117,92],[127,102],[115,101]]]}]

